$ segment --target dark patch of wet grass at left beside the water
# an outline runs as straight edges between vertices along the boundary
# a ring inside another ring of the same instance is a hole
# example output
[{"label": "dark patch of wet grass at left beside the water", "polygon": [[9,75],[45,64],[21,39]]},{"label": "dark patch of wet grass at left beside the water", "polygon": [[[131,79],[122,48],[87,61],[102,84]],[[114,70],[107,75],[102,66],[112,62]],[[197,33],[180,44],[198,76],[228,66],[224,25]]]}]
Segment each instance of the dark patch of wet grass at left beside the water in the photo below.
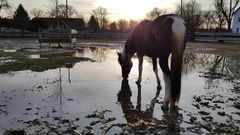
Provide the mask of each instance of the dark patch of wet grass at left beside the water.
[{"label": "dark patch of wet grass at left beside the water", "polygon": [[93,61],[90,58],[73,57],[74,52],[62,52],[62,53],[43,53],[40,54],[39,59],[29,58],[31,54],[29,52],[14,52],[14,53],[0,53],[0,57],[10,60],[0,65],[0,74],[8,73],[10,71],[22,71],[31,70],[42,72],[48,69],[56,69],[58,67],[71,68],[77,62],[81,61]]}]

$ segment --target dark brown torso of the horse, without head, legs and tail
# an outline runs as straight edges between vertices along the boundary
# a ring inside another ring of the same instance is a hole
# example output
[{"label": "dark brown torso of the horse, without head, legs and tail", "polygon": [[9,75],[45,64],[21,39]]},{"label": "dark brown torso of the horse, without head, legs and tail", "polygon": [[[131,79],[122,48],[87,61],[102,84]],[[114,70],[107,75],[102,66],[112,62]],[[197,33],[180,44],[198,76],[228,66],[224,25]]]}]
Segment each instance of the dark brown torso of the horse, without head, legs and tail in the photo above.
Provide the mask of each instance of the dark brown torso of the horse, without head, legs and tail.
[{"label": "dark brown torso of the horse, without head, legs and tail", "polygon": [[162,15],[153,21],[144,20],[132,31],[127,48],[130,52],[140,55],[167,57],[173,50],[173,32],[182,32],[178,26],[180,23],[181,18],[174,14]]}]

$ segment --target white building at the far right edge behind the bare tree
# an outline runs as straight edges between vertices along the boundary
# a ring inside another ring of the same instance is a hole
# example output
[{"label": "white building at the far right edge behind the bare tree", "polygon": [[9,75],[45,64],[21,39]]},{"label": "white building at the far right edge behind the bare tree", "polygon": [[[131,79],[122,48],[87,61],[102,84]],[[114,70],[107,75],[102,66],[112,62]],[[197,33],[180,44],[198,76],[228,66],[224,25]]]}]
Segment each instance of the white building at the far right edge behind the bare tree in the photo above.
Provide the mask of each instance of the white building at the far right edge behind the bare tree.
[{"label": "white building at the far right edge behind the bare tree", "polygon": [[233,13],[232,32],[240,33],[240,7]]}]

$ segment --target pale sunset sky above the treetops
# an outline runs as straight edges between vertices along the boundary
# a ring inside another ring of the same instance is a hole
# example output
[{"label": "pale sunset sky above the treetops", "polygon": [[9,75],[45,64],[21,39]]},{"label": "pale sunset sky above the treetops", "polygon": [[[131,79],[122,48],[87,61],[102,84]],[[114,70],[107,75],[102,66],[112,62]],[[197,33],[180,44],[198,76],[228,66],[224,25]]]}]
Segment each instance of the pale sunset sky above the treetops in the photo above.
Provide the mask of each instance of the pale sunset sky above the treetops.
[{"label": "pale sunset sky above the treetops", "polygon": [[[21,3],[28,12],[33,8],[47,10],[53,4],[51,0],[8,0],[13,11]],[[183,0],[189,1],[189,0]],[[89,18],[91,11],[99,6],[107,8],[111,20],[118,19],[142,19],[146,13],[154,7],[165,9],[168,13],[175,11],[175,7],[180,0],[68,0],[69,5],[73,6],[85,18]],[[198,1],[203,8],[212,6],[213,0]],[[65,0],[59,0],[64,4]],[[1,12],[1,15],[7,16]]]}]

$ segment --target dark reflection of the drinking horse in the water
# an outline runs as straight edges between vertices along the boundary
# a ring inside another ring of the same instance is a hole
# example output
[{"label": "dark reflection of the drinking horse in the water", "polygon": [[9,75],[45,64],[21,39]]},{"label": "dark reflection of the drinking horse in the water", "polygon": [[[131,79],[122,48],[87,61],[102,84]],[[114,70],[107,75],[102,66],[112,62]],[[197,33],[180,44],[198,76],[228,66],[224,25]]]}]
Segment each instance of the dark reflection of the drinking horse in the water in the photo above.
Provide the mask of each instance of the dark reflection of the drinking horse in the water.
[{"label": "dark reflection of the drinking horse in the water", "polygon": [[[132,127],[134,129],[130,129],[130,132],[134,132],[133,134],[155,134],[159,132],[162,134],[176,134],[180,132],[177,108],[169,111],[163,109],[162,120],[154,118],[153,113],[159,94],[160,90],[156,92],[155,97],[151,100],[151,104],[145,111],[143,111],[141,110],[141,85],[138,85],[137,104],[136,107],[134,107],[133,103],[131,102],[132,92],[128,84],[128,80],[123,79],[121,90],[117,96],[127,123],[136,125]],[[137,123],[141,121],[146,122],[149,125],[145,125],[146,127],[137,127],[139,126]]]}]

